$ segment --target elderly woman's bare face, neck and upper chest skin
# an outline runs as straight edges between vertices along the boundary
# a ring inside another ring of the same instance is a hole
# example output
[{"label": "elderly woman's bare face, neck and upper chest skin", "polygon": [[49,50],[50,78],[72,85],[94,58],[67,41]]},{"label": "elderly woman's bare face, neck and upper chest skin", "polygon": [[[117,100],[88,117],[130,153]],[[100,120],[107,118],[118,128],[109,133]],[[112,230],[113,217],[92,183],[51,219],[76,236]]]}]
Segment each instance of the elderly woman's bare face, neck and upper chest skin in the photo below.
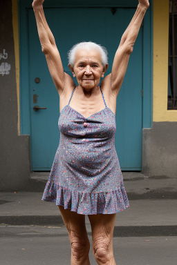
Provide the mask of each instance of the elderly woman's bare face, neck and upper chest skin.
[{"label": "elderly woman's bare face, neck and upper chest skin", "polygon": [[68,67],[73,77],[77,78],[79,86],[75,90],[70,105],[84,117],[89,117],[104,108],[98,85],[109,65],[102,65],[102,58],[97,50],[78,50],[75,55],[74,67],[71,64]]}]

